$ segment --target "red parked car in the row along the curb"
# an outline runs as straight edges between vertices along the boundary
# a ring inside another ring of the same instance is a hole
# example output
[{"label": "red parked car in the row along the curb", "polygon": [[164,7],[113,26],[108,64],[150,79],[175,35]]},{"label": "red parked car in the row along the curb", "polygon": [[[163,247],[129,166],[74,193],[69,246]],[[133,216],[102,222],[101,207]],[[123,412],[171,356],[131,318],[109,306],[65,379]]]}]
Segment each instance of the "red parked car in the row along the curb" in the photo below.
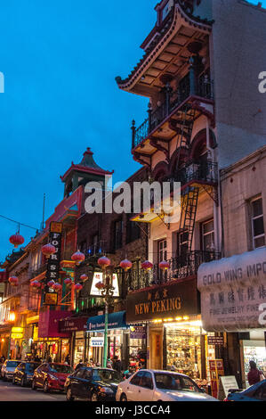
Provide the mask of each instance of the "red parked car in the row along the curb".
[{"label": "red parked car in the row along the curb", "polygon": [[32,390],[43,389],[44,392],[51,390],[64,390],[64,384],[69,374],[73,373],[73,368],[66,364],[56,364],[44,362],[38,366],[33,374]]}]

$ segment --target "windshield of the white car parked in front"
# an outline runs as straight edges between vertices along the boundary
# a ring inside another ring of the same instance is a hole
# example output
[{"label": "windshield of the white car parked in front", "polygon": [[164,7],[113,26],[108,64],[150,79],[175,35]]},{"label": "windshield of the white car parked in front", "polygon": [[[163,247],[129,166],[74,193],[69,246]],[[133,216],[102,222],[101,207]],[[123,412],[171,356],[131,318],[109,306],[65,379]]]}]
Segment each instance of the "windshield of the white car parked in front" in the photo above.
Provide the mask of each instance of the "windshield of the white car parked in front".
[{"label": "windshield of the white car parked in front", "polygon": [[186,391],[197,391],[199,388],[195,382],[189,379],[189,377],[183,377],[179,374],[154,374],[157,389],[161,390],[186,390]]}]

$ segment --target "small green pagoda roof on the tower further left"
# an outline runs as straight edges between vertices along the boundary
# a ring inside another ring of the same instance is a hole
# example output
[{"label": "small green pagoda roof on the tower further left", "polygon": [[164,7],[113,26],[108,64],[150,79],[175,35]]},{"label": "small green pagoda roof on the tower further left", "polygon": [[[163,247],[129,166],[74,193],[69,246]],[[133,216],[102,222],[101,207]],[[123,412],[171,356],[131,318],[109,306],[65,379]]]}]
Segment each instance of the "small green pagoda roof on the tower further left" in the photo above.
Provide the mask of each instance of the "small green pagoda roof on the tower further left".
[{"label": "small green pagoda roof on the tower further left", "polygon": [[98,164],[95,163],[93,159],[93,152],[91,151],[90,147],[88,147],[85,151],[81,162],[79,164],[75,164],[72,161],[70,168],[62,177],[60,177],[60,179],[64,182],[67,179],[67,177],[69,177],[69,174],[73,171],[100,176],[112,175],[114,173],[114,170],[111,172],[109,170],[104,170],[103,168],[100,168]]}]

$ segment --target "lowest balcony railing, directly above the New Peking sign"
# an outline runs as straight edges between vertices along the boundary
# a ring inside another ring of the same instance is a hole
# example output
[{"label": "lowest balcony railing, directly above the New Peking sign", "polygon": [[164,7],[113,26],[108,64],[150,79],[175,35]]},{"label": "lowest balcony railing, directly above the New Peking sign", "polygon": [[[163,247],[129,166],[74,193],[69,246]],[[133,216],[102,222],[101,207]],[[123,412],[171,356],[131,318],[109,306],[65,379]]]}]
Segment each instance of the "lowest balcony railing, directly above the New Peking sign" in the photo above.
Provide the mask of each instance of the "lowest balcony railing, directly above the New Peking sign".
[{"label": "lowest balcony railing, directly above the New Peking sign", "polygon": [[191,251],[181,257],[168,260],[170,268],[167,271],[162,271],[158,265],[154,265],[149,272],[141,269],[131,270],[127,279],[128,289],[129,291],[140,290],[152,285],[167,283],[174,279],[197,275],[197,269],[202,263],[221,259],[221,256],[221,253],[217,251]]}]

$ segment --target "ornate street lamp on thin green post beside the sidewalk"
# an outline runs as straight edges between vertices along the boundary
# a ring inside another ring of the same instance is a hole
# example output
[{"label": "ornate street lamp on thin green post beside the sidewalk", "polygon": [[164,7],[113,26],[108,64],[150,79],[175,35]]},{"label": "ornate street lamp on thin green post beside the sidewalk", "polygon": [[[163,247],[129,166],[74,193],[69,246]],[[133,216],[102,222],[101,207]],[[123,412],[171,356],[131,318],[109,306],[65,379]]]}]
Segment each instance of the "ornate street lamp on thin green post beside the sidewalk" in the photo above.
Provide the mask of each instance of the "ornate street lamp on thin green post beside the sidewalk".
[{"label": "ornate street lamp on thin green post beside the sidewalk", "polygon": [[106,268],[109,267],[110,261],[108,258],[100,258],[98,264],[103,271],[102,282],[96,283],[96,287],[101,291],[101,295],[105,302],[105,317],[104,317],[104,344],[103,344],[103,367],[107,367],[108,356],[108,315],[109,302],[114,295],[115,287],[113,286],[113,269],[110,269],[110,274],[106,273]]}]

